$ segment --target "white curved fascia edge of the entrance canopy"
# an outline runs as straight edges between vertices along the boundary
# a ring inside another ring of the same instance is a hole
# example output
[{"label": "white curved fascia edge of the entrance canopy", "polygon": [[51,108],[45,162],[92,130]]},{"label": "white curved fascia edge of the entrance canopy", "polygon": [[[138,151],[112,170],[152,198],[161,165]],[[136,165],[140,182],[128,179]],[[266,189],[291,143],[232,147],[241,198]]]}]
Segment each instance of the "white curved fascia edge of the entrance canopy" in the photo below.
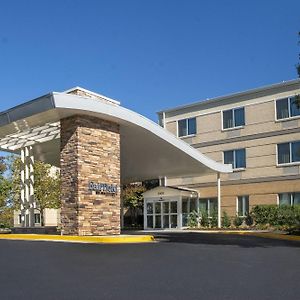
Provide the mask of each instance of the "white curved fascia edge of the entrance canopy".
[{"label": "white curved fascia edge of the entrance canopy", "polygon": [[[102,101],[97,101],[97,99],[94,98],[84,98],[74,94],[53,92],[47,94],[46,97],[44,96],[31,100],[18,105],[17,107],[11,108],[2,114],[0,113],[0,128],[13,123],[14,121],[23,120],[50,109],[76,111],[79,114],[88,114],[90,112],[99,117],[105,116],[113,118],[118,122],[123,121],[125,123],[138,126],[144,130],[147,130],[148,132],[151,132],[164,142],[174,146],[178,150],[181,150],[184,154],[188,155],[196,162],[199,162],[201,165],[204,165],[215,172],[232,172],[231,165],[225,165],[210,159],[206,155],[193,148],[191,145],[178,139],[173,134],[160,127],[158,124],[134,111],[126,109],[122,106],[111,105]],[[1,118],[3,115],[4,118],[6,117],[5,119]]]}]

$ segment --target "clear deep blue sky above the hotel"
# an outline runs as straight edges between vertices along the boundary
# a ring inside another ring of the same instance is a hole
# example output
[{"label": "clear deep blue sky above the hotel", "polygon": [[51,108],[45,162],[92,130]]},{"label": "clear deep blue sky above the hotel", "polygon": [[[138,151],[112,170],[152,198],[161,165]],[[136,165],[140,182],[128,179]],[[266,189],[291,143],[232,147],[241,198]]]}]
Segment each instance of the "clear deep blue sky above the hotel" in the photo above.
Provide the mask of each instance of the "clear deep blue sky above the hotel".
[{"label": "clear deep blue sky above the hotel", "polygon": [[156,111],[297,77],[299,0],[0,0],[0,111],[73,86]]}]

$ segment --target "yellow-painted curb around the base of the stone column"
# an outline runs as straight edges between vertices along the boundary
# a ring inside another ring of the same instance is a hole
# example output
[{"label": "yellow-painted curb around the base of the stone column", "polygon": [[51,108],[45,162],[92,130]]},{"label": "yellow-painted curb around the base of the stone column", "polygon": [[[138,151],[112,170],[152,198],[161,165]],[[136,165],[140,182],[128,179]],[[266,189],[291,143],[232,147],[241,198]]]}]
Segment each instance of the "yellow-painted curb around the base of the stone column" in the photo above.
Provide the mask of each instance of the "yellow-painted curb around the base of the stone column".
[{"label": "yellow-painted curb around the base of the stone column", "polygon": [[154,242],[152,235],[120,235],[120,236],[70,236],[47,234],[0,234],[2,240],[48,241],[90,244],[126,244]]}]

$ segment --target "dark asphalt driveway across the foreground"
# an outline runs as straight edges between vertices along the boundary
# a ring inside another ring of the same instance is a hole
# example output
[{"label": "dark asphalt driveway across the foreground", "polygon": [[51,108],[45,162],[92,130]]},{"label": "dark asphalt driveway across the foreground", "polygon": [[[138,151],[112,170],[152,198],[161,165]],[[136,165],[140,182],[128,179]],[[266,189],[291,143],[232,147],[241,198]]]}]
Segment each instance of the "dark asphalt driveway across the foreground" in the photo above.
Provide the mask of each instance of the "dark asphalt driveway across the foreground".
[{"label": "dark asphalt driveway across the foreground", "polygon": [[300,243],[156,233],[157,243],[0,240],[0,299],[297,299]]}]

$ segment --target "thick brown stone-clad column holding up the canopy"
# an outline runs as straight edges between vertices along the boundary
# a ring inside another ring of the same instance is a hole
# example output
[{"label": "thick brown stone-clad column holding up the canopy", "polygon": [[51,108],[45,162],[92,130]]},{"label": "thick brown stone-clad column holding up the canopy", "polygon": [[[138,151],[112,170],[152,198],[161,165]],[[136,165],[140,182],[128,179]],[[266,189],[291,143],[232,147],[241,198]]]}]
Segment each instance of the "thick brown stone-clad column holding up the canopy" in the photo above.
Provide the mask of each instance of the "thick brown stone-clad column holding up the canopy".
[{"label": "thick brown stone-clad column holding up the canopy", "polygon": [[120,193],[97,192],[90,182],[120,186],[119,125],[89,116],[61,120],[63,234],[120,233]]}]

